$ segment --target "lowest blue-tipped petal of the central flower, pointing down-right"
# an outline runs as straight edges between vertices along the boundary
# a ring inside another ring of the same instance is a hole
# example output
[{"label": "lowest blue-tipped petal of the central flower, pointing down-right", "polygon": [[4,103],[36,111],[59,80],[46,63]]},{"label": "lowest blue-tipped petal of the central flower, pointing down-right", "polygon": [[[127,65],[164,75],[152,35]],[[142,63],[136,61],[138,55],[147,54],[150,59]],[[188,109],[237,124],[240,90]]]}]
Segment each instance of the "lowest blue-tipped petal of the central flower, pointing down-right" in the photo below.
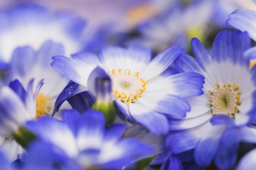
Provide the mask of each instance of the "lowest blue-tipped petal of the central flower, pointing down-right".
[{"label": "lowest blue-tipped petal of the central flower, pointing down-right", "polygon": [[166,134],[169,131],[169,125],[165,115],[150,110],[138,102],[130,104],[128,108],[130,115],[153,134]]}]

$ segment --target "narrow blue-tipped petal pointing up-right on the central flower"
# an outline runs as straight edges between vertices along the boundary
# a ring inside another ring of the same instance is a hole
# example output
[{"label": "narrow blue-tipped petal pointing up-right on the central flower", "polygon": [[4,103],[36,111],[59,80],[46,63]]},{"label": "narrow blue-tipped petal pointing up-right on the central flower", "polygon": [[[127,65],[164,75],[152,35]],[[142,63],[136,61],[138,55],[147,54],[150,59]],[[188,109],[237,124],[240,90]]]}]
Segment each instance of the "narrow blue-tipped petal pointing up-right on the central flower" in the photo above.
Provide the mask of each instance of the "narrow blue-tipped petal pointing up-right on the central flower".
[{"label": "narrow blue-tipped petal pointing up-right on the central flower", "polygon": [[142,77],[152,79],[168,68],[174,60],[182,53],[183,49],[179,46],[173,46],[159,53],[151,60],[148,66],[141,73]]}]

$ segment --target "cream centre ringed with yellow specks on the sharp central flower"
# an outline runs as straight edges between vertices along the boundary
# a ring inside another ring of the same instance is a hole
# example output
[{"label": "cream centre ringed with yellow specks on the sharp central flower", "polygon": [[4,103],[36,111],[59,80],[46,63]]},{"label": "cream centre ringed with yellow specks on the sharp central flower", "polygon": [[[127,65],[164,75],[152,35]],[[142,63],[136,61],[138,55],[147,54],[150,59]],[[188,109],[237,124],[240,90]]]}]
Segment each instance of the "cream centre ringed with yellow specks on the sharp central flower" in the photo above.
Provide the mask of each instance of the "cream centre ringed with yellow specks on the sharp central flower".
[{"label": "cream centre ringed with yellow specks on the sharp central flower", "polygon": [[112,80],[112,93],[121,102],[130,104],[136,102],[137,98],[146,91],[148,81],[139,77],[139,72],[131,73],[130,70],[119,69],[108,71]]}]

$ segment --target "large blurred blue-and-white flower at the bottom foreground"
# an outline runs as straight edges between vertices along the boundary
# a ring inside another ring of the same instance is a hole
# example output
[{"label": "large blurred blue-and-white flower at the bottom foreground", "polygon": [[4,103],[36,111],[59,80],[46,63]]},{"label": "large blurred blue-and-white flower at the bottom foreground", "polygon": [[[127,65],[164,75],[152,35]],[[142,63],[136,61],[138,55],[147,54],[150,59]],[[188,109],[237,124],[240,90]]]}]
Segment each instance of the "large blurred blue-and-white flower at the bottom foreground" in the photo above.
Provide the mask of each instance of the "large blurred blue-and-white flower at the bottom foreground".
[{"label": "large blurred blue-and-white flower at the bottom foreground", "polygon": [[[83,115],[76,110],[64,110],[63,121],[40,117],[37,121],[28,122],[26,127],[39,140],[38,144],[35,143],[28,150],[28,155],[38,146],[47,146],[47,152],[52,150],[58,155],[56,159],[66,160],[61,166],[121,169],[153,154],[150,146],[136,139],[121,138],[125,130],[124,124],[114,124],[106,129],[104,115],[95,110],[87,110]],[[44,154],[44,150],[41,152]],[[38,163],[49,159],[35,157],[36,155],[28,157],[28,165],[30,159]],[[61,160],[56,160],[56,163],[61,163]]]}]

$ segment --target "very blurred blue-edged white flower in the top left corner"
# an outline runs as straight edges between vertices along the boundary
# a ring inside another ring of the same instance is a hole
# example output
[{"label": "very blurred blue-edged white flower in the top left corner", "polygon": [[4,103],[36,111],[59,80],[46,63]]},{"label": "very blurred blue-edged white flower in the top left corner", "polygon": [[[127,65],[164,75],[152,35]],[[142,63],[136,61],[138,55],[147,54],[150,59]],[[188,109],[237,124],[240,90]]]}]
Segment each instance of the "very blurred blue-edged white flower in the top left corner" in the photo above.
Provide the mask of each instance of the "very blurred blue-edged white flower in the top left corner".
[{"label": "very blurred blue-edged white flower in the top left corner", "polygon": [[21,4],[0,12],[0,68],[7,67],[17,47],[39,50],[47,40],[62,43],[65,54],[82,49],[79,35],[85,22],[72,13],[50,13],[36,4]]}]

